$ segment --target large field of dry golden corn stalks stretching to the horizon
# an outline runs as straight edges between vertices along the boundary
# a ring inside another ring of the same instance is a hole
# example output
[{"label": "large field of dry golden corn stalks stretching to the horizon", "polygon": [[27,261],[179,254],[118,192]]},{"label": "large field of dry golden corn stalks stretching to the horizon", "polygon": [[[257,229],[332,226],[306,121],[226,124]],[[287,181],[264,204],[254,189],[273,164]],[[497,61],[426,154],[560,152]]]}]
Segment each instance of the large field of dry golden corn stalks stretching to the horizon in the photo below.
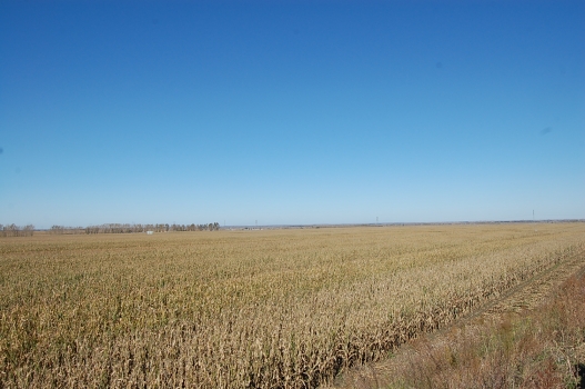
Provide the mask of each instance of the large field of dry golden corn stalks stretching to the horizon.
[{"label": "large field of dry golden corn stalks stretching to the horizon", "polygon": [[563,262],[585,223],[0,240],[0,388],[312,388]]}]

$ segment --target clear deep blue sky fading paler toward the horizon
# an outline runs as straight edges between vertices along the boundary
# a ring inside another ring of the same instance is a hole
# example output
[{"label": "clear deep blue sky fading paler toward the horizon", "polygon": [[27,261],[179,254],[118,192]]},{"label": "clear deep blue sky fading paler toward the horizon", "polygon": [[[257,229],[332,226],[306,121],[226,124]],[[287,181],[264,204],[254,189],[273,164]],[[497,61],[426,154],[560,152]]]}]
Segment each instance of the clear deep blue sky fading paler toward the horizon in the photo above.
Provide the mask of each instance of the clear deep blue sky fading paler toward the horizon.
[{"label": "clear deep blue sky fading paler toward the horizon", "polygon": [[584,1],[0,2],[0,223],[585,218]]}]

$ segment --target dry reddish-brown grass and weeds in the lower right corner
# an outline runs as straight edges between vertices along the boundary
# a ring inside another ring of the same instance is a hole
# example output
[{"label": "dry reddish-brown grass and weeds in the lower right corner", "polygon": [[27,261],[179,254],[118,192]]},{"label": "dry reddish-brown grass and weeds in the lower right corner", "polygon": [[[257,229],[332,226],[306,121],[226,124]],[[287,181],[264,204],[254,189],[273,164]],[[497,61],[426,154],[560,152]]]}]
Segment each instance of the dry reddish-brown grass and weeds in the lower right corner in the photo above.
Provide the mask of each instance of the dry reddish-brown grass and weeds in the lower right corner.
[{"label": "dry reddish-brown grass and weeds in the lower right corner", "polygon": [[534,309],[441,332],[356,368],[335,388],[584,388],[585,271]]}]

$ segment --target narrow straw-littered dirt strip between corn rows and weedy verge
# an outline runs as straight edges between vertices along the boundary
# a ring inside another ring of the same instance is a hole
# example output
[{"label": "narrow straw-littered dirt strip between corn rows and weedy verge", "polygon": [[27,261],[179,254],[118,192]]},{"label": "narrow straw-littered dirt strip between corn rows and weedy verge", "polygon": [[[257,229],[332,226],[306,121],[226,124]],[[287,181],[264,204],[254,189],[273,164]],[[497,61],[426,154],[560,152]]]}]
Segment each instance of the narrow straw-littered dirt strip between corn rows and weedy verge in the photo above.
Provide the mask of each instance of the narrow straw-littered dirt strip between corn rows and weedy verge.
[{"label": "narrow straw-littered dirt strip between corn rows and weedy verge", "polygon": [[[466,316],[457,319],[453,325],[433,333],[426,333],[426,341],[441,341],[441,337],[454,328],[473,326],[485,319],[496,319],[503,313],[520,313],[525,310],[531,310],[539,306],[548,296],[558,290],[558,287],[573,275],[585,275],[585,258],[582,253],[561,260],[551,268],[511,288],[498,298],[478,306]],[[403,345],[396,351],[395,356],[399,356],[401,352],[410,352],[410,349],[407,343]],[[379,381],[376,377],[383,375],[384,371],[389,371],[389,363],[392,363],[392,360],[382,360],[375,363],[355,367],[345,375],[337,377],[331,386],[323,389],[375,388],[375,382]]]}]

